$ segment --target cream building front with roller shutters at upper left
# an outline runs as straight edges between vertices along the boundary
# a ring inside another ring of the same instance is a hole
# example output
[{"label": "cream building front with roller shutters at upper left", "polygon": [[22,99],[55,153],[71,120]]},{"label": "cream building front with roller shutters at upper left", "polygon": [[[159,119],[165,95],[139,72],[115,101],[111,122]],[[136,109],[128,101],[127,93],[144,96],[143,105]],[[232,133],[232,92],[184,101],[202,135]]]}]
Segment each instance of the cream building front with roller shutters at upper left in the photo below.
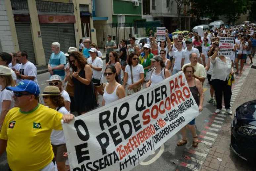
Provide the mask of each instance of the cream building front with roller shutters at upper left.
[{"label": "cream building front with roller shutters at upper left", "polygon": [[[4,3],[7,16],[3,17],[7,22],[0,22],[5,24],[0,27],[2,51],[27,51],[28,59],[36,65],[48,64],[52,42],[59,42],[63,52],[70,46],[79,47],[81,38],[96,42],[91,0],[0,0],[0,3]],[[4,31],[8,34],[3,37]]]}]

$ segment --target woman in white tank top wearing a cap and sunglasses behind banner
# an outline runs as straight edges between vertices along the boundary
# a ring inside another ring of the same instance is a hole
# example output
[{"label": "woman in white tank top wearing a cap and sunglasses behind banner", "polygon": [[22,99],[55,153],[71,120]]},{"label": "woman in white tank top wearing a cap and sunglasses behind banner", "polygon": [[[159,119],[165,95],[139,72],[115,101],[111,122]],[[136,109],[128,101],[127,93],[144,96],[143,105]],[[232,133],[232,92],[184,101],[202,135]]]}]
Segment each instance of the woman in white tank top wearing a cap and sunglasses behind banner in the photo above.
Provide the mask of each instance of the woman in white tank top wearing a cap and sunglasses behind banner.
[{"label": "woman in white tank top wearing a cap and sunglasses behind banner", "polygon": [[171,76],[169,70],[165,68],[165,65],[163,63],[163,59],[161,56],[155,55],[150,60],[153,62],[154,68],[152,69],[150,80],[146,83],[146,88],[148,88],[149,86],[153,86],[163,81],[165,78],[168,78]]}]

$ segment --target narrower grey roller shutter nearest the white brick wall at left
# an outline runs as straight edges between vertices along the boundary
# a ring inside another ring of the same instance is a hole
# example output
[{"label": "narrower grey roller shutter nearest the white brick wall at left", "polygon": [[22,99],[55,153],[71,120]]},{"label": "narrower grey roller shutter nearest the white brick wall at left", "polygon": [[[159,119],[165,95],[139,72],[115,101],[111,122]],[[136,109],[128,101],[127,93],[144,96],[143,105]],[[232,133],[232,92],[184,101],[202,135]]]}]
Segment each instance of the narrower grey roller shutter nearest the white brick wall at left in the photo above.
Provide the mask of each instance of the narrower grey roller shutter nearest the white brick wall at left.
[{"label": "narrower grey roller shutter nearest the white brick wall at left", "polygon": [[30,23],[15,23],[15,28],[20,51],[26,51],[28,54],[28,60],[33,64],[36,64]]}]

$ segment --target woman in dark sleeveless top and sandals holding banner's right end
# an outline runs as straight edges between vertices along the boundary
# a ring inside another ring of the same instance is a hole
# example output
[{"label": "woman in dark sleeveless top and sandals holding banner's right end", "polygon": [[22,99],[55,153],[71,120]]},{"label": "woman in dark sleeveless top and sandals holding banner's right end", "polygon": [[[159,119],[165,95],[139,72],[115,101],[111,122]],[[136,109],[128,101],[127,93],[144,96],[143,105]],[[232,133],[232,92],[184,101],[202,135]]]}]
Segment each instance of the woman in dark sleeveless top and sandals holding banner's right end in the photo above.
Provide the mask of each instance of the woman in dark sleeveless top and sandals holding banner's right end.
[{"label": "woman in dark sleeveless top and sandals holding banner's right end", "polygon": [[[203,110],[203,99],[204,99],[203,86],[202,86],[200,80],[193,77],[195,69],[191,65],[186,65],[183,68],[183,72],[185,74],[187,83],[189,85],[189,89],[195,99],[196,104],[199,107],[199,111],[201,112]],[[198,137],[197,137],[196,129],[195,129],[195,118],[181,129],[182,140],[180,140],[177,143],[177,146],[182,146],[184,144],[187,144],[187,142],[188,142],[186,127],[188,127],[192,133],[193,147],[197,147],[198,146]]]}]

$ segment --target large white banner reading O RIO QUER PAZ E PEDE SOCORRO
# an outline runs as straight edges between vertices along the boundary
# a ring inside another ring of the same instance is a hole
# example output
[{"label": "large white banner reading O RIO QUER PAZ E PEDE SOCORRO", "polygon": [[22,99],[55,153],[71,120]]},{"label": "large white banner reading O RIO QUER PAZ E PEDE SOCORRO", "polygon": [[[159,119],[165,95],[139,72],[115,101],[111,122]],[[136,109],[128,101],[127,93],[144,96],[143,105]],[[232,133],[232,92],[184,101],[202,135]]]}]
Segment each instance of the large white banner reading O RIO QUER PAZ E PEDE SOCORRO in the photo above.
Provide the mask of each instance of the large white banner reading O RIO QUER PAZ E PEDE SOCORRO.
[{"label": "large white banner reading O RIO QUER PAZ E PEDE SOCORRO", "polygon": [[63,124],[72,171],[131,170],[199,115],[183,72]]}]

